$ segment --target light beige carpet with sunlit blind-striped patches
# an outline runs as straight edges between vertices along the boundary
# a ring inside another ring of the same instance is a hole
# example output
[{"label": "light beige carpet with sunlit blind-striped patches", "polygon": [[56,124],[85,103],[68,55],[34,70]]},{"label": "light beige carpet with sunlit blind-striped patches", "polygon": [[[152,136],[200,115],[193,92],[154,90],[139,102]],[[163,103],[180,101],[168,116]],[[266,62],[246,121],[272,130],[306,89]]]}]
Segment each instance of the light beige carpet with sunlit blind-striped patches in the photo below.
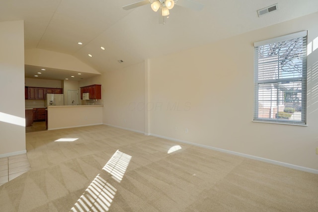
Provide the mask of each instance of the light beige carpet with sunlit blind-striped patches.
[{"label": "light beige carpet with sunlit blind-striped patches", "polygon": [[27,133],[26,147],[1,212],[318,211],[316,174],[109,126]]}]

